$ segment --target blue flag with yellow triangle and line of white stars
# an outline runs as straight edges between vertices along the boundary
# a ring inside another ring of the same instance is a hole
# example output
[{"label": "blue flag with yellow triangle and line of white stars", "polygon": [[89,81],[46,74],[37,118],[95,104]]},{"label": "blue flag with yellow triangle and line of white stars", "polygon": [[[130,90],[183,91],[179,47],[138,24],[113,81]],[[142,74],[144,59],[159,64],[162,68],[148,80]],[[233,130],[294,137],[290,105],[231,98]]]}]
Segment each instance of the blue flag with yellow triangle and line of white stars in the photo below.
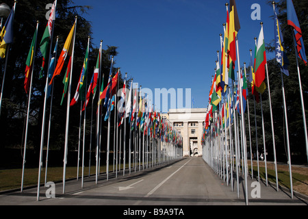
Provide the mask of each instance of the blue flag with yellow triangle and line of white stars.
[{"label": "blue flag with yellow triangle and line of white stars", "polygon": [[279,63],[281,72],[289,76],[289,70],[287,70],[287,66],[289,66],[290,63],[289,60],[287,60],[287,54],[285,53],[285,49],[283,49],[283,35],[281,34],[280,25],[275,10],[274,10],[274,24],[275,24],[274,37],[275,37],[276,60]]}]

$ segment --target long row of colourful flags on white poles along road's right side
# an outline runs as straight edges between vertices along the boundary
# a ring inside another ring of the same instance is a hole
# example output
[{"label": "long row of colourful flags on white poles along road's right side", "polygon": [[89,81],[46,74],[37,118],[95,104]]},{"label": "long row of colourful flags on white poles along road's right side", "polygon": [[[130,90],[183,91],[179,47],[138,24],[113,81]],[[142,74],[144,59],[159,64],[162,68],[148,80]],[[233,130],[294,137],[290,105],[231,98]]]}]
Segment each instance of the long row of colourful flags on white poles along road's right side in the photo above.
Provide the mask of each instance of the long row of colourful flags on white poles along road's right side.
[{"label": "long row of colourful flags on white poles along road's right side", "polygon": [[[250,111],[246,112],[246,106],[249,107],[247,83],[251,83],[251,90],[253,95],[254,107],[256,103],[261,106],[261,127],[264,151],[260,153],[264,155],[265,164],[265,182],[268,186],[268,172],[267,172],[267,149],[266,149],[266,133],[264,110],[262,104],[262,94],[265,90],[268,91],[270,124],[272,130],[272,146],[274,156],[274,168],[276,177],[276,190],[279,192],[279,179],[277,175],[277,155],[276,143],[274,135],[274,121],[272,114],[272,101],[270,93],[270,79],[268,74],[268,62],[266,59],[266,46],[264,42],[263,23],[261,22],[261,30],[259,37],[255,40],[255,58],[253,61],[252,49],[251,63],[249,66],[249,77],[246,77],[246,62],[244,62],[244,70],[240,64],[239,54],[239,40],[238,32],[240,31],[240,21],[238,18],[238,10],[236,8],[235,0],[230,0],[226,3],[227,21],[224,23],[224,38],[220,34],[220,51],[217,51],[216,68],[214,70],[215,76],[212,78],[212,86],[209,92],[209,105],[205,116],[205,125],[203,127],[203,159],[216,174],[223,179],[223,181],[231,183],[231,190],[233,191],[233,183],[236,183],[235,190],[238,198],[240,197],[240,175],[244,176],[245,187],[245,202],[248,205],[248,140],[246,136],[246,115],[248,115],[248,129],[249,129],[249,147],[251,159],[251,179],[253,177],[253,151],[251,144],[251,121]],[[292,161],[290,151],[289,129],[287,123],[287,106],[285,101],[285,90],[283,86],[283,74],[289,75],[288,66],[289,61],[283,49],[283,34],[277,18],[275,10],[275,2],[272,1],[274,12],[274,42],[276,61],[280,67],[281,75],[281,91],[283,96],[283,116],[284,128],[286,136],[286,154],[287,163],[290,172],[290,194],[294,198],[293,183],[292,183]],[[303,125],[305,131],[306,153],[308,159],[308,142],[307,142],[307,125],[305,117],[305,107],[303,103],[303,90],[301,88],[300,71],[298,66],[298,57],[307,65],[307,57],[305,55],[305,47],[303,46],[303,37],[298,23],[298,18],[294,10],[292,0],[287,0],[287,25],[292,26],[292,34],[294,36],[294,51],[296,56],[296,65],[298,70],[299,92],[303,112]],[[221,55],[219,54],[221,53]],[[220,58],[221,57],[221,58]],[[237,75],[235,75],[235,63],[237,63]],[[235,77],[237,76],[237,78]],[[265,81],[266,79],[266,81]],[[249,109],[249,108],[248,108]],[[256,118],[256,110],[255,110]],[[259,177],[259,144],[257,142],[257,120],[255,120],[255,137],[256,137],[256,157],[257,157],[257,181]],[[235,175],[235,176],[233,176]]]}]

